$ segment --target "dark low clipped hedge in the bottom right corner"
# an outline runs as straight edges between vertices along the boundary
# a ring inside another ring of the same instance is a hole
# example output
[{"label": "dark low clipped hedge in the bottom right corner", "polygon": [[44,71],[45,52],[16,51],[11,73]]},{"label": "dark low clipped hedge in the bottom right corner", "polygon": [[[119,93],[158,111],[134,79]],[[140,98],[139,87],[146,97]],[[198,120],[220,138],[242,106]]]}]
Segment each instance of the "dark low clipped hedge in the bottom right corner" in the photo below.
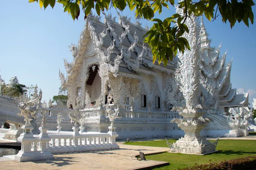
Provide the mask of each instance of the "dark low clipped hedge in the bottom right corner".
[{"label": "dark low clipped hedge in the bottom right corner", "polygon": [[178,170],[255,170],[256,156],[248,156],[239,159],[231,159],[229,161],[221,161],[221,163],[209,163],[186,167]]}]

